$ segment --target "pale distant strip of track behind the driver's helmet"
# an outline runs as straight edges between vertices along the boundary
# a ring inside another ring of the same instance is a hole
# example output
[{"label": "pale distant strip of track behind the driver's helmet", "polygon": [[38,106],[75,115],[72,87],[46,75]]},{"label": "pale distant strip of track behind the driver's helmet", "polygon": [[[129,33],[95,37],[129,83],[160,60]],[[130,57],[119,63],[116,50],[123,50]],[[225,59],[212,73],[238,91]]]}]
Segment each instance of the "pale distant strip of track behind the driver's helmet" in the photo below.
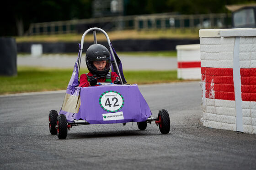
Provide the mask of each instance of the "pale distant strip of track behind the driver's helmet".
[{"label": "pale distant strip of track behind the driver's helmet", "polygon": [[[122,61],[123,70],[176,70],[176,57],[147,57],[147,56],[128,56],[119,55]],[[17,65],[19,66],[40,66],[56,68],[73,68],[76,55],[43,55],[33,57],[31,55],[18,56]],[[82,57],[81,68],[86,68],[85,55]]]}]

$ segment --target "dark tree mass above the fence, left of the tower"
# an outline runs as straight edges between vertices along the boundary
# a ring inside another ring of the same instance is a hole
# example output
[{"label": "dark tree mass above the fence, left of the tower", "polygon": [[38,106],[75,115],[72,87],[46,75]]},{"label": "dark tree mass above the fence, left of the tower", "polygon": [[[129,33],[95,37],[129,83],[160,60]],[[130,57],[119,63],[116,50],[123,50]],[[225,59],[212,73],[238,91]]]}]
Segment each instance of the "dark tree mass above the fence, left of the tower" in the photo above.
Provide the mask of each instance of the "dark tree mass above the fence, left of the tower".
[{"label": "dark tree mass above the fence, left of the tower", "polygon": [[91,17],[92,0],[17,0],[5,2],[0,36],[23,35],[31,23]]}]

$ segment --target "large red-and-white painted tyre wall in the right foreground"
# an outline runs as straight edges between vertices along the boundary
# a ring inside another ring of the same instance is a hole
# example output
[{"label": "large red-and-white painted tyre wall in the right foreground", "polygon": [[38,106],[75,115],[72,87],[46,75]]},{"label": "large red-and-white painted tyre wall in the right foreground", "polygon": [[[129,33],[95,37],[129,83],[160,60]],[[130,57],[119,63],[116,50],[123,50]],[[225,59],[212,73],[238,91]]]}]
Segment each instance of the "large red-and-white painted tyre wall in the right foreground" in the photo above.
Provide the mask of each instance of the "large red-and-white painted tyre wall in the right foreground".
[{"label": "large red-and-white painted tyre wall in the right foreground", "polygon": [[256,29],[200,30],[203,125],[256,134]]}]

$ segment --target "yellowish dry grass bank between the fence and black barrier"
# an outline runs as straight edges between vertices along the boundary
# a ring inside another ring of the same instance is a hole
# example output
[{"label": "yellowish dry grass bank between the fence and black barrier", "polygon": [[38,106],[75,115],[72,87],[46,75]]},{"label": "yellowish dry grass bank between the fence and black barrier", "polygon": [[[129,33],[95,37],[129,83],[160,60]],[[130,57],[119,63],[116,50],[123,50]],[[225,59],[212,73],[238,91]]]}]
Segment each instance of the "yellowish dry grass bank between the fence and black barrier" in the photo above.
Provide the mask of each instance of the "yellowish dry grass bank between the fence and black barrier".
[{"label": "yellowish dry grass bank between the fence and black barrier", "polygon": [[[199,30],[189,29],[165,29],[165,30],[118,30],[108,31],[110,40],[126,40],[126,39],[199,39]],[[56,34],[56,35],[33,35],[15,37],[16,42],[81,42],[83,34]],[[106,41],[103,33],[97,31],[98,41]],[[93,42],[93,34],[89,33],[85,37],[85,41]]]}]

